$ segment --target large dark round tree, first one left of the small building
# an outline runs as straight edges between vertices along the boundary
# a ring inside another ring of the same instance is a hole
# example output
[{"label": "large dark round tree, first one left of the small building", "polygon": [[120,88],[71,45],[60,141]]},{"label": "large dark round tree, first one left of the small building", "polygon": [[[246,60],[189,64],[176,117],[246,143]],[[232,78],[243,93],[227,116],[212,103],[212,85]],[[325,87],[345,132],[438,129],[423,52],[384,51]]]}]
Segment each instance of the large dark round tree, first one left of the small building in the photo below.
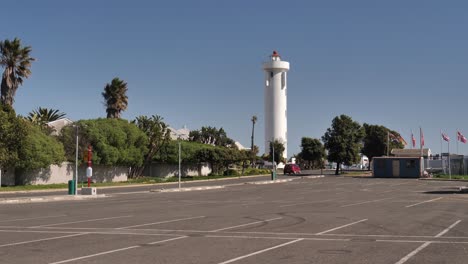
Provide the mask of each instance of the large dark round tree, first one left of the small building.
[{"label": "large dark round tree, first one left of the small building", "polygon": [[322,141],[328,150],[328,160],[336,162],[335,175],[338,175],[341,164],[351,165],[359,161],[364,136],[364,129],[351,117],[341,115],[333,119]]}]

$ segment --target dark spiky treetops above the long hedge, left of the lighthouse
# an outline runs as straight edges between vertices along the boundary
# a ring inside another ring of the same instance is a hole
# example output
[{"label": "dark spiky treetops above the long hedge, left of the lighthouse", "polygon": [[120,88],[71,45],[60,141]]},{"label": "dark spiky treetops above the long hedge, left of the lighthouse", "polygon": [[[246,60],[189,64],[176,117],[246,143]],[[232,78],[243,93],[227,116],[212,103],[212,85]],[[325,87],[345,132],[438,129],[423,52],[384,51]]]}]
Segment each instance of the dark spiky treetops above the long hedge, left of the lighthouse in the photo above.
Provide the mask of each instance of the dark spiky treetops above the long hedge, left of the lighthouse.
[{"label": "dark spiky treetops above the long hedge, left of the lighthouse", "polygon": [[200,130],[190,131],[189,138],[190,141],[203,144],[236,148],[234,140],[227,137],[226,131],[223,128],[202,127]]}]

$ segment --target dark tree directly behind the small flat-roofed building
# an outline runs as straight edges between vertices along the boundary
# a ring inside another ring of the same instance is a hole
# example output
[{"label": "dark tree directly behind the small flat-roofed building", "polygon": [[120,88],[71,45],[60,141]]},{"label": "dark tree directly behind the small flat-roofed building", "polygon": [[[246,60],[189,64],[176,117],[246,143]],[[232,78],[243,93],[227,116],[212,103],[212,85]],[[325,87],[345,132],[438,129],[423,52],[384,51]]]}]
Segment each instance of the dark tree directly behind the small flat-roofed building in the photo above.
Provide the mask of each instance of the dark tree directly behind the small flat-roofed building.
[{"label": "dark tree directly behind the small flat-roofed building", "polygon": [[[364,123],[363,127],[366,136],[363,140],[364,146],[362,148],[362,154],[369,158],[369,162],[372,161],[374,157],[386,155],[389,133],[394,135],[397,139],[401,137],[398,132],[390,130],[384,126]],[[390,139],[389,143],[389,150],[394,148],[404,148],[404,145],[400,140]]]}]

